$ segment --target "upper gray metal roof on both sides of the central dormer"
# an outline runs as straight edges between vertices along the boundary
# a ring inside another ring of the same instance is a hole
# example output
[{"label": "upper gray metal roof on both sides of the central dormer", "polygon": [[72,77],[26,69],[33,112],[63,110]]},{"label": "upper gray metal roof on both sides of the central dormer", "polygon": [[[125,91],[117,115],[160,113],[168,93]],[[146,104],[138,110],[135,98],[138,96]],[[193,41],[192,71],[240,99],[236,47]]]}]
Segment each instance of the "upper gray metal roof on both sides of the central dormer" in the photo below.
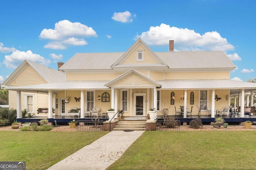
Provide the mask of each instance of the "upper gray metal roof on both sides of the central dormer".
[{"label": "upper gray metal roof on both sides of the central dormer", "polygon": [[[169,51],[156,52],[156,55],[164,64],[112,64],[121,57],[123,53],[77,53],[68,60],[61,70],[110,70],[111,68],[125,67],[166,67],[170,69],[193,69],[193,68],[222,68],[232,70],[236,66],[230,61],[223,51]],[[112,67],[111,67],[112,66]]]}]

